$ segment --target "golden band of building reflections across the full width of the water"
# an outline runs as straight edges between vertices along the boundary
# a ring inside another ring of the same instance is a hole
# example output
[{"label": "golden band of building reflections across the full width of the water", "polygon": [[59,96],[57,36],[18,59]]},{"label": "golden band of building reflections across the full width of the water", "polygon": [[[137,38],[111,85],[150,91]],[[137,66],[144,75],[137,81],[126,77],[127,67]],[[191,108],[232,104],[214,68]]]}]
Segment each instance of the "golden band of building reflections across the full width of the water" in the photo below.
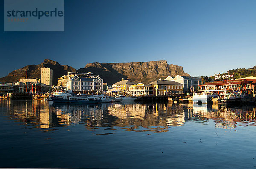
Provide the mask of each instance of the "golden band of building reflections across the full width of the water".
[{"label": "golden band of building reflections across the full width of the water", "polygon": [[2,112],[13,122],[26,127],[52,128],[84,124],[87,129],[111,127],[116,130],[166,132],[168,127],[184,125],[189,121],[208,124],[222,129],[236,125],[255,125],[255,107],[227,107],[221,104],[138,104],[135,102],[83,105],[55,104],[43,100],[0,101]]}]

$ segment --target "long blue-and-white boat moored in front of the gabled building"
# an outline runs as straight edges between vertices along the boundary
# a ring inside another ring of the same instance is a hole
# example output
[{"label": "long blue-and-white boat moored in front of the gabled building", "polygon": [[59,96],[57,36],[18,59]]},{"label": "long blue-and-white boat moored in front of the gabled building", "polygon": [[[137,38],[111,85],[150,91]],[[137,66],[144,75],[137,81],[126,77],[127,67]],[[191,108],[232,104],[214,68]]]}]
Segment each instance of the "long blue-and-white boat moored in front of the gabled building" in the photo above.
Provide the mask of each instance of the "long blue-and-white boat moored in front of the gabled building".
[{"label": "long blue-and-white boat moored in front of the gabled building", "polygon": [[55,103],[93,103],[97,104],[101,102],[100,97],[93,97],[88,95],[76,95],[73,96],[70,93],[61,93],[59,95],[51,96],[51,99]]}]

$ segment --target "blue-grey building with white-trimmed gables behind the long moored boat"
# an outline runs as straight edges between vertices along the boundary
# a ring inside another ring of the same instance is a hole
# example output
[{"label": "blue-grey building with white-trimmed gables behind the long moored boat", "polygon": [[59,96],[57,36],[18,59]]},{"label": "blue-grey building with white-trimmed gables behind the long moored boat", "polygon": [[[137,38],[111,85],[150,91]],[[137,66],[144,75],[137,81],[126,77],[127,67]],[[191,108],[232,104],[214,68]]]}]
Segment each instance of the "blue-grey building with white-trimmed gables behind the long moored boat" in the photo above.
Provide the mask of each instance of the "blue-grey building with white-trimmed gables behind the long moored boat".
[{"label": "blue-grey building with white-trimmed gables behind the long moored boat", "polygon": [[73,92],[102,92],[103,80],[99,75],[90,78],[74,75],[67,79],[67,90],[73,90]]}]

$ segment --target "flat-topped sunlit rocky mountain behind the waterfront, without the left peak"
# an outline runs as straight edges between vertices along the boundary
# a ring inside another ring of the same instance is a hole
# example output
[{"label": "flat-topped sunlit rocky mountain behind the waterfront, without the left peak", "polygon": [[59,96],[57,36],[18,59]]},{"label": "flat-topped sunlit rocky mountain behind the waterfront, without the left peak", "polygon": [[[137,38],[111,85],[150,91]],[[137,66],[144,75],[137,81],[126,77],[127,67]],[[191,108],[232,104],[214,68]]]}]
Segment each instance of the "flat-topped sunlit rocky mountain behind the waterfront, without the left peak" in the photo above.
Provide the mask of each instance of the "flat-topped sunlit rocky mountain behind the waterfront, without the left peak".
[{"label": "flat-topped sunlit rocky mountain behind the waterfront, without the left peak", "polygon": [[78,72],[92,72],[112,85],[122,78],[133,82],[142,82],[148,84],[160,78],[167,76],[189,76],[185,73],[183,67],[168,64],[166,60],[150,62],[130,62],[130,63],[89,63],[84,68],[78,69]]}]

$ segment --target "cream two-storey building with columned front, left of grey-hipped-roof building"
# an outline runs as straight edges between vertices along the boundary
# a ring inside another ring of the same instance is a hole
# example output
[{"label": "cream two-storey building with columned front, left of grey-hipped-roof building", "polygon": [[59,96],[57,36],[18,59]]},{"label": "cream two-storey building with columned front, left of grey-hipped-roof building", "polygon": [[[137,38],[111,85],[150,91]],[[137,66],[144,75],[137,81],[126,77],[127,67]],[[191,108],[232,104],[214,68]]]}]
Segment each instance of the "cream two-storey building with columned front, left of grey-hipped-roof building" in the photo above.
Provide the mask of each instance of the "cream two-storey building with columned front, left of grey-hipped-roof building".
[{"label": "cream two-storey building with columned front, left of grey-hipped-roof building", "polygon": [[154,85],[138,83],[129,87],[131,96],[154,96]]}]

